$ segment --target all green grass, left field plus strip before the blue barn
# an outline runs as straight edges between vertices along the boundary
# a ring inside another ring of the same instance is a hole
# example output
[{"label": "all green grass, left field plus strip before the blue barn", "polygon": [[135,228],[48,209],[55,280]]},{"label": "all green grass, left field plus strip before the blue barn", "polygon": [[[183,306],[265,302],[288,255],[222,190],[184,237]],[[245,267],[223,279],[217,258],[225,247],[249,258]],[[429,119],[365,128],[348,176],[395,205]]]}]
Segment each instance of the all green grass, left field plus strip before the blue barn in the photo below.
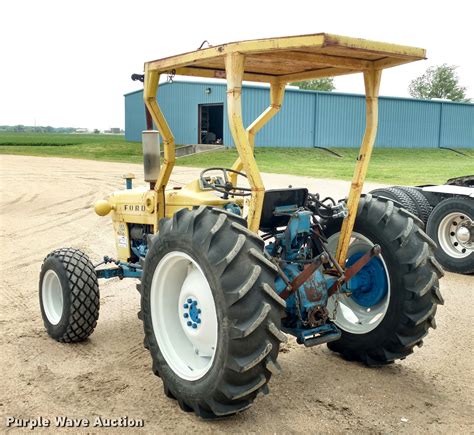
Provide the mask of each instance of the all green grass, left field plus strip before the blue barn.
[{"label": "all green grass, left field plus strip before the blue barn", "polygon": [[[356,149],[334,148],[342,158],[312,148],[257,148],[255,155],[263,172],[350,180],[357,159]],[[442,183],[448,178],[474,172],[474,149],[467,156],[448,150],[382,149],[372,155],[367,179],[387,184]],[[119,135],[22,134],[0,132],[0,154],[71,157],[141,163],[141,145]],[[180,166],[230,167],[234,149],[197,154],[178,159]]]}]

